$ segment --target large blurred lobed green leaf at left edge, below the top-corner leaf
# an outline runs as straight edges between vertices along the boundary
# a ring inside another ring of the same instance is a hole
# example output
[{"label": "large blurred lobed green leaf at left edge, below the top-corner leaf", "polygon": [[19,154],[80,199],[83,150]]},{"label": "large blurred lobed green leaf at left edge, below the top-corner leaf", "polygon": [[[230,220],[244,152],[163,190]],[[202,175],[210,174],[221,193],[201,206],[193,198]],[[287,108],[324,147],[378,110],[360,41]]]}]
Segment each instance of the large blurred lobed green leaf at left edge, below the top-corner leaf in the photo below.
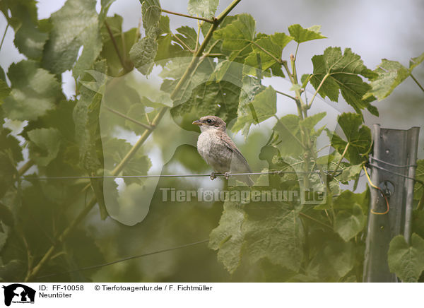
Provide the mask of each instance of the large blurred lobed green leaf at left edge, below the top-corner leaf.
[{"label": "large blurred lobed green leaf at left edge, below the top-corner leaf", "polygon": [[9,119],[37,119],[54,108],[54,103],[63,97],[54,75],[40,69],[33,60],[12,64],[8,69],[8,78],[13,90],[4,100],[3,108]]}]

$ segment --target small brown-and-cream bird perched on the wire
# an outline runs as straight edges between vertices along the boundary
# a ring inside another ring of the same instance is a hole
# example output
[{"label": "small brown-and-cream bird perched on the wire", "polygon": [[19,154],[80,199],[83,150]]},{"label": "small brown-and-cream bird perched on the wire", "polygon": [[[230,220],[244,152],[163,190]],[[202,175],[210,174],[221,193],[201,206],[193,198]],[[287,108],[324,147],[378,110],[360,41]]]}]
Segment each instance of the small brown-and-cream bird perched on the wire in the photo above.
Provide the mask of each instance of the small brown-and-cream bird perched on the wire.
[{"label": "small brown-and-cream bird perched on the wire", "polygon": [[[228,136],[227,124],[219,117],[208,115],[201,117],[192,124],[199,125],[201,134],[197,139],[197,151],[213,170],[225,174],[228,179],[232,173],[251,173],[252,170],[246,158]],[[212,172],[211,179],[216,177]],[[235,176],[241,182],[252,186],[254,182],[246,175]]]}]

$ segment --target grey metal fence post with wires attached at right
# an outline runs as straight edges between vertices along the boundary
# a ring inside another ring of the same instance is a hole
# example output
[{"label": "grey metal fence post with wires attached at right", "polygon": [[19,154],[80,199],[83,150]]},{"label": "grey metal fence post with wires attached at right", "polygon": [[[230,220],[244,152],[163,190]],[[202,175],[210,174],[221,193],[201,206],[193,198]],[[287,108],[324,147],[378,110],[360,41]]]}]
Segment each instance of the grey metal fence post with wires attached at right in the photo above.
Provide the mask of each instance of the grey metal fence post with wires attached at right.
[{"label": "grey metal fence post with wires attached at right", "polygon": [[[371,179],[386,192],[390,210],[385,215],[368,215],[363,282],[398,282],[396,275],[389,271],[387,251],[396,235],[404,235],[406,241],[411,236],[413,180],[406,177],[415,177],[419,131],[419,127],[400,130],[382,129],[379,124],[373,126]],[[372,188],[371,209],[377,213],[387,209],[384,196]]]}]

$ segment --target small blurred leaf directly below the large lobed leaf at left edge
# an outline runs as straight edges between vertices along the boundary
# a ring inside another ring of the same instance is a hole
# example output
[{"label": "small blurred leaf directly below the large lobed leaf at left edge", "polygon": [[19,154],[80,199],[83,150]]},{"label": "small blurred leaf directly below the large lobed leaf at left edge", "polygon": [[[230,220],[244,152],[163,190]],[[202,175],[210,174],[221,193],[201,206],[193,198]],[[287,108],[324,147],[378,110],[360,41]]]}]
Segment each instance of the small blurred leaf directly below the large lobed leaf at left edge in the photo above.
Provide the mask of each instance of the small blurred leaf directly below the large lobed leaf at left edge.
[{"label": "small blurred leaf directly below the large lobed leaf at left edge", "polygon": [[30,158],[40,166],[47,166],[59,153],[61,135],[57,129],[34,129],[28,131]]}]

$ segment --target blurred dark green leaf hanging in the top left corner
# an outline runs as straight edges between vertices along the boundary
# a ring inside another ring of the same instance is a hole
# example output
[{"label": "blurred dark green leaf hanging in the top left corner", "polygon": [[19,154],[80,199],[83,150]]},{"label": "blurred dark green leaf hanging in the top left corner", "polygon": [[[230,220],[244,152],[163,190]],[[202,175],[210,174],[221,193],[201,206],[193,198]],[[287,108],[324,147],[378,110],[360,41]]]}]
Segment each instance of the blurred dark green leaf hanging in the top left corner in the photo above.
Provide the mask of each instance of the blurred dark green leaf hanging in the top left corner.
[{"label": "blurred dark green leaf hanging in the top left corner", "polygon": [[[30,59],[40,59],[47,33],[42,31],[37,20],[37,6],[34,0],[4,0],[0,6],[8,23],[15,30],[15,40],[19,52]],[[11,17],[9,17],[10,10]]]}]

